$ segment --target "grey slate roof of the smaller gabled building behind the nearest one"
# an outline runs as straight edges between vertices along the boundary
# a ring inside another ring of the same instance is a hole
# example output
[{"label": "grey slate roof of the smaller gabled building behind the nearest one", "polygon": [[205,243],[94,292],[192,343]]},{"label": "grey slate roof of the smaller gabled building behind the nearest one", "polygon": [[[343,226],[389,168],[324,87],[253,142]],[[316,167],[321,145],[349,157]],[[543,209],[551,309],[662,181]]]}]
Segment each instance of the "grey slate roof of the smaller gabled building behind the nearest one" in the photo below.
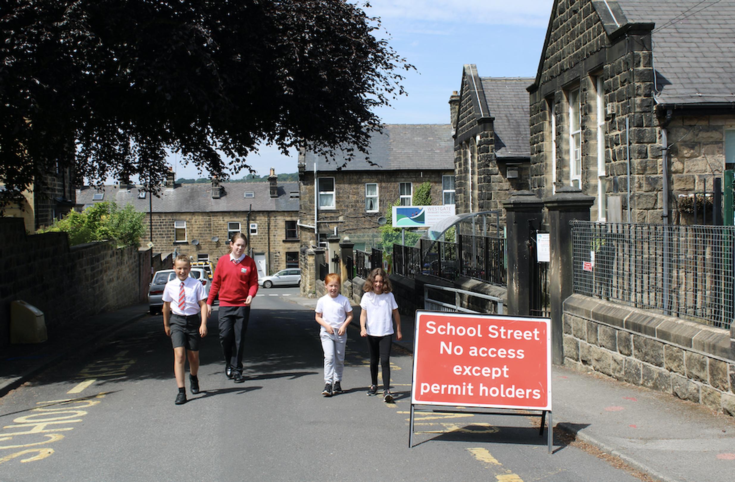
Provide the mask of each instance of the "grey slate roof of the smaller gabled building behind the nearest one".
[{"label": "grey slate roof of the smaller gabled building behind the nearest one", "polygon": [[490,117],[494,117],[495,156],[531,157],[528,90],[532,77],[481,77]]}]

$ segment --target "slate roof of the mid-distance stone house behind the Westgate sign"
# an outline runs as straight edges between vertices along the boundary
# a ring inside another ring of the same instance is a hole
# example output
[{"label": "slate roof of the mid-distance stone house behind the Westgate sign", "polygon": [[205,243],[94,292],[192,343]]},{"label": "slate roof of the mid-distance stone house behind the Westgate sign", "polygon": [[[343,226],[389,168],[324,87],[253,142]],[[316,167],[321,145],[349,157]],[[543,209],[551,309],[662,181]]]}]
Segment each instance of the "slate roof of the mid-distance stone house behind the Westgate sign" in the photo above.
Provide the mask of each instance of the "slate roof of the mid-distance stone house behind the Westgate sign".
[{"label": "slate roof of the mid-distance stone house behind the Westgate sign", "polygon": [[[528,94],[526,94],[528,104]],[[528,123],[528,121],[526,121]],[[343,151],[344,152],[344,151]],[[370,165],[365,154],[357,152],[355,158],[342,168],[356,170],[454,170],[454,140],[449,124],[386,124],[382,134],[373,134],[368,149]],[[346,155],[337,154],[335,161],[306,151],[306,171],[337,170],[345,163]]]}]

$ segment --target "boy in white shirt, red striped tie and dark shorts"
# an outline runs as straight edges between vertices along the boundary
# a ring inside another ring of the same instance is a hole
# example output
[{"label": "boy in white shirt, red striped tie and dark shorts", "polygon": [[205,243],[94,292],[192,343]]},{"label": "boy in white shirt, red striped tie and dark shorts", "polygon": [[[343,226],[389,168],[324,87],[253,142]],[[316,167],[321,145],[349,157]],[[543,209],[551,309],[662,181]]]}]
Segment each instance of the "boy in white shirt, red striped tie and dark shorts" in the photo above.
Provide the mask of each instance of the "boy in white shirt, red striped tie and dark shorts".
[{"label": "boy in white shirt, red striped tie and dark shorts", "polygon": [[[173,260],[176,278],[163,289],[163,329],[173,345],[173,374],[179,393],[176,405],[186,403],[184,364],[189,354],[189,383],[191,392],[199,392],[199,339],[207,336],[207,294],[201,282],[190,278],[189,256],[180,254]],[[173,312],[173,313],[172,313]]]}]

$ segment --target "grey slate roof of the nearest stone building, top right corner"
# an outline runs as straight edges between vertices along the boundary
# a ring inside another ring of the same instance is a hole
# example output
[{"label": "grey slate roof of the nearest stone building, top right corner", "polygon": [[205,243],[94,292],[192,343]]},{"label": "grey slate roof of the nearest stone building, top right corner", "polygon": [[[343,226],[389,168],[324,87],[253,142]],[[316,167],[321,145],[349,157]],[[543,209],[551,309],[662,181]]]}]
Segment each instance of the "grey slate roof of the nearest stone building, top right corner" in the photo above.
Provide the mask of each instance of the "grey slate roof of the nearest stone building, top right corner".
[{"label": "grey slate roof of the nearest stone building, top right corner", "polygon": [[617,4],[628,22],[655,24],[651,36],[659,104],[735,102],[735,0]]}]

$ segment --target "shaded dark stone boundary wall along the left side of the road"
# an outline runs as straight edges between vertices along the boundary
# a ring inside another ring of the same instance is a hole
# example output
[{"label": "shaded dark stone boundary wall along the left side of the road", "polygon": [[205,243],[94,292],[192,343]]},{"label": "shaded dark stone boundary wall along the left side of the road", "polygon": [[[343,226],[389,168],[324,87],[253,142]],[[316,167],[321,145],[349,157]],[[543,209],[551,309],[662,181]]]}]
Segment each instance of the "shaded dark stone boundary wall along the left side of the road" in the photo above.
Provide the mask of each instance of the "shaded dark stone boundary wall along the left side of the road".
[{"label": "shaded dark stone boundary wall along the left side of the road", "polygon": [[11,301],[40,309],[49,338],[79,318],[140,303],[147,253],[107,241],[70,247],[65,233],[28,235],[21,218],[0,218],[0,347],[10,343]]}]

